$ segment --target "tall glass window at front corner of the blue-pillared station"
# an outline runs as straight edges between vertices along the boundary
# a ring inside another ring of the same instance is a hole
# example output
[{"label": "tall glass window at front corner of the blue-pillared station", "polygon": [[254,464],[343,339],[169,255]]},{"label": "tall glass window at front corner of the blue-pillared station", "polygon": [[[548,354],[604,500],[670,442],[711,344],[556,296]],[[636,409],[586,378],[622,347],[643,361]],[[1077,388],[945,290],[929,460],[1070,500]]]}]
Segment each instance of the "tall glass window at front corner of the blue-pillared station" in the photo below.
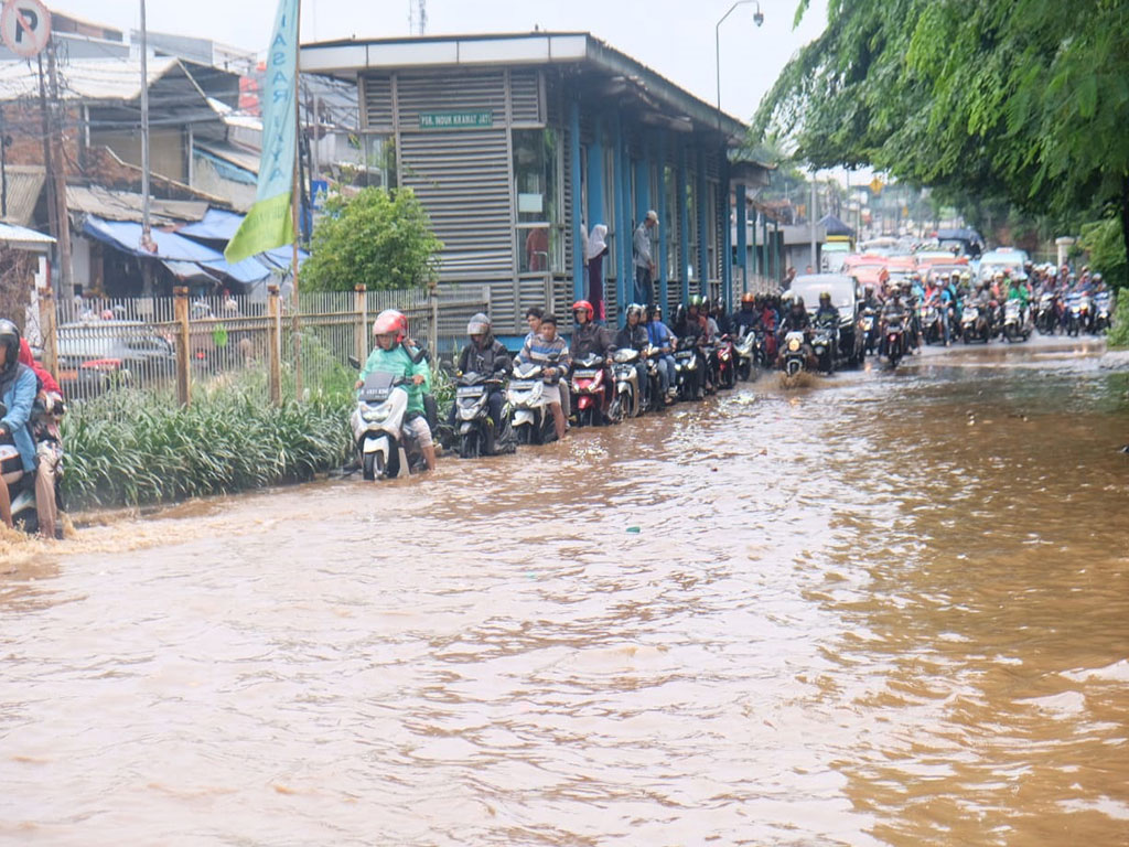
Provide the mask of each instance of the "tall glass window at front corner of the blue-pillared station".
[{"label": "tall glass window at front corner of the blue-pillared station", "polygon": [[514,130],[518,273],[564,271],[562,167],[555,130]]}]

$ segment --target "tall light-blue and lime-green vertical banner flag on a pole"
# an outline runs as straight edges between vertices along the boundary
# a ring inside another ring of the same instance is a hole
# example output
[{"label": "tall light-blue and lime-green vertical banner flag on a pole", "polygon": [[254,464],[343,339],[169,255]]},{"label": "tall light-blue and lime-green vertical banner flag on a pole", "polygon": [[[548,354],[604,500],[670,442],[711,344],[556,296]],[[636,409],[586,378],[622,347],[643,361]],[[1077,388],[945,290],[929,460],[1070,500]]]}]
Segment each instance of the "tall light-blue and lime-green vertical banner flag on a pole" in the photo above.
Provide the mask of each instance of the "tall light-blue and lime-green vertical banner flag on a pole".
[{"label": "tall light-blue and lime-green vertical banner flag on a pole", "polygon": [[235,263],[294,242],[290,193],[297,148],[295,81],[298,73],[298,2],[279,0],[263,80],[263,152],[255,204],[224,250]]}]

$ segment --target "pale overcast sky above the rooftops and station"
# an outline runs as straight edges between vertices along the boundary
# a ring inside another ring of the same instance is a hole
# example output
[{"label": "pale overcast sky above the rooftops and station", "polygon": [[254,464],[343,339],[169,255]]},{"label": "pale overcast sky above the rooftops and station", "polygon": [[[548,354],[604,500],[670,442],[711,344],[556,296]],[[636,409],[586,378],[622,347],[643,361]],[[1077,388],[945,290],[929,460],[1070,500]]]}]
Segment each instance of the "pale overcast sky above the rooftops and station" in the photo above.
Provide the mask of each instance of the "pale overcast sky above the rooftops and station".
[{"label": "pale overcast sky above the rooftops and station", "polygon": [[[721,106],[747,121],[780,69],[823,28],[814,0],[793,29],[797,0],[738,7],[721,25]],[[715,25],[733,0],[427,0],[429,35],[586,30],[638,59],[707,103],[717,101]],[[47,0],[54,11],[123,30],[140,24],[140,0]],[[301,40],[382,38],[409,34],[409,0],[303,0]],[[148,0],[150,29],[264,51],[275,0]]]}]

